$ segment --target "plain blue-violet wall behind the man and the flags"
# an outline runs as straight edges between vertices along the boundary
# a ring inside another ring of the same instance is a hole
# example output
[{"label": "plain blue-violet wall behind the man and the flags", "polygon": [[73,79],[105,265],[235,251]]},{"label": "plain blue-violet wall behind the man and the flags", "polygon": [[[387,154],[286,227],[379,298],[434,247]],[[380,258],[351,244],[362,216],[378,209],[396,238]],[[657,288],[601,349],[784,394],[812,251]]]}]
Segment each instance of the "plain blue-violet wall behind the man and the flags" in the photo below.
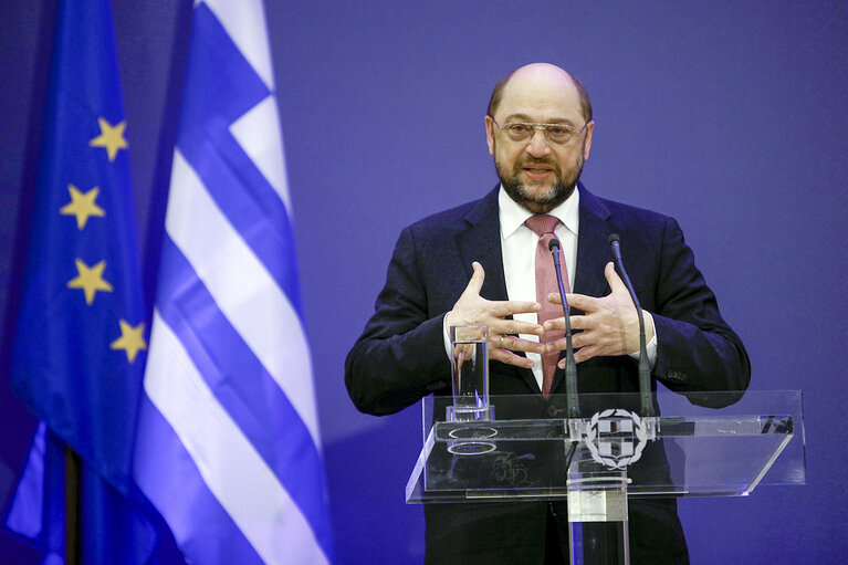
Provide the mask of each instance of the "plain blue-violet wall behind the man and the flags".
[{"label": "plain blue-violet wall behind the man and the flags", "polygon": [[[401,228],[495,182],[488,96],[534,61],[591,93],[587,186],[680,221],[751,388],[805,393],[807,485],[683,501],[693,563],[844,563],[848,4],[266,3],[339,563],[421,562],[421,509],[404,504],[420,416],[357,414],[344,356]],[[114,6],[148,302],[188,4]],[[32,430],[8,372],[54,12],[0,7],[0,506]],[[0,563],[35,556],[0,534]]]}]

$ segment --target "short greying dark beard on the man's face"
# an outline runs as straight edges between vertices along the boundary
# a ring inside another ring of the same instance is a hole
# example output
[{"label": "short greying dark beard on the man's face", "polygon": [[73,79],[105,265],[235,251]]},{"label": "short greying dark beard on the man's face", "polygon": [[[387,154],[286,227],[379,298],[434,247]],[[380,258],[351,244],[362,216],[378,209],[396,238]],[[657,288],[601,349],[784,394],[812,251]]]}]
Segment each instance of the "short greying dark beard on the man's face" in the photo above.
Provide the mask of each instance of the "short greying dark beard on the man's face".
[{"label": "short greying dark beard on the man's face", "polygon": [[[525,185],[519,180],[519,174],[522,169],[533,165],[546,165],[554,171],[554,184],[543,191],[540,191],[541,182]],[[533,213],[547,213],[565,202],[574,192],[574,187],[583,172],[583,151],[579,153],[574,166],[564,170],[553,159],[536,159],[532,156],[525,156],[517,160],[512,170],[506,170],[506,167],[495,158],[494,168],[498,170],[501,185],[510,198]]]}]

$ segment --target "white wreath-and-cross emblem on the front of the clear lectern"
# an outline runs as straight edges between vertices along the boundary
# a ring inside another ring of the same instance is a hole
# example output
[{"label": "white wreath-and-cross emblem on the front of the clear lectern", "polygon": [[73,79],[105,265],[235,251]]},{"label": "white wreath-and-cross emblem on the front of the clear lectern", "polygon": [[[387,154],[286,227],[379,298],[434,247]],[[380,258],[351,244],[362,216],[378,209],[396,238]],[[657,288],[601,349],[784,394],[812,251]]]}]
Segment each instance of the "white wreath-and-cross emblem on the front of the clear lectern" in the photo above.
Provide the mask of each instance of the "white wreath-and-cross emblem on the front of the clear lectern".
[{"label": "white wreath-and-cross emblem on the front of the clear lectern", "polygon": [[647,430],[639,415],[621,408],[596,412],[586,428],[591,458],[610,469],[625,469],[642,457]]}]

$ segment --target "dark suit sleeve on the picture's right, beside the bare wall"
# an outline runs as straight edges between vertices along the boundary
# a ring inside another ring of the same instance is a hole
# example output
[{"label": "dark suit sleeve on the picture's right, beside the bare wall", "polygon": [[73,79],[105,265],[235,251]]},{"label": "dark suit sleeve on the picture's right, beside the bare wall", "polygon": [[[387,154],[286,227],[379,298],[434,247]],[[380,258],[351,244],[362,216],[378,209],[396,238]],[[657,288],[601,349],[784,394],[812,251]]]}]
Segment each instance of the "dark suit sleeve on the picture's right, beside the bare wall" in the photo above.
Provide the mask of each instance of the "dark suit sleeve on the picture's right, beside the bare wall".
[{"label": "dark suit sleeve on the picture's right, beside the bare wall", "polygon": [[[747,353],[719,313],[715,295],[672,219],[662,238],[653,321],[658,339],[653,375],[668,388],[679,393],[747,388]],[[690,399],[710,404],[697,396],[690,395]]]}]

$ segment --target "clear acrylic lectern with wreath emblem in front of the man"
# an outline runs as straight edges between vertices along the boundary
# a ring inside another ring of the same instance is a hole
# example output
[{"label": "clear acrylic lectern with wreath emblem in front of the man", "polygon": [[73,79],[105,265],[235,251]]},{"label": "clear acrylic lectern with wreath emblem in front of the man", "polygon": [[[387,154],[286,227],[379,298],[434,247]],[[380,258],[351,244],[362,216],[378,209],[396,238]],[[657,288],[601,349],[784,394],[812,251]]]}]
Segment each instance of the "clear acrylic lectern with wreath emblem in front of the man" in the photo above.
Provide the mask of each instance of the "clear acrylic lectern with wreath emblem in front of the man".
[{"label": "clear acrylic lectern with wreath emblem in front of the man", "polygon": [[[493,396],[489,419],[450,421],[422,400],[408,503],[565,500],[573,564],[629,563],[628,498],[744,496],[805,483],[800,391]],[[446,416],[447,415],[447,416]]]}]

